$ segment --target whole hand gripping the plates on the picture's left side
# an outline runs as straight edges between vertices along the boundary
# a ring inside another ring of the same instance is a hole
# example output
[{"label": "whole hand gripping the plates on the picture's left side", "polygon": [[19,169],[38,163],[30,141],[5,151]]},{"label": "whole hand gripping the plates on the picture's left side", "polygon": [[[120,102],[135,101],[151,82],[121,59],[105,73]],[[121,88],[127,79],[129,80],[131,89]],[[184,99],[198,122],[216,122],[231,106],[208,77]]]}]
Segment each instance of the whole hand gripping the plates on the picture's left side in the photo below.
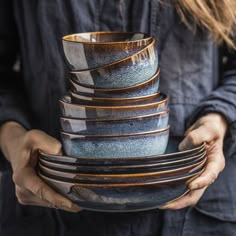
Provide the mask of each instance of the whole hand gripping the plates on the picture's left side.
[{"label": "whole hand gripping the plates on the picture's left side", "polygon": [[71,212],[80,210],[70,200],[52,190],[35,172],[38,149],[60,154],[61,144],[56,139],[42,131],[26,131],[18,123],[7,122],[0,128],[0,148],[11,163],[19,203]]}]

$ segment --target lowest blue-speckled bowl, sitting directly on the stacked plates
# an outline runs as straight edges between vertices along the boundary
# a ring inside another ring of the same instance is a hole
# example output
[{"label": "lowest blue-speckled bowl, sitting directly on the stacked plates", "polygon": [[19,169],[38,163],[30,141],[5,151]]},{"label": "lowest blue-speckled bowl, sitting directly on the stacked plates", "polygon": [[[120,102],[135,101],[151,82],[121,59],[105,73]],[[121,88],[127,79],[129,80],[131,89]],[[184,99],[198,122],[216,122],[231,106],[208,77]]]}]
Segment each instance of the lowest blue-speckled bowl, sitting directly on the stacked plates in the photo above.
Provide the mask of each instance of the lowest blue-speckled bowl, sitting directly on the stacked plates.
[{"label": "lowest blue-speckled bowl, sitting directly on the stacked plates", "polygon": [[61,132],[68,156],[126,158],[160,155],[166,150],[169,129],[121,135],[79,135]]}]

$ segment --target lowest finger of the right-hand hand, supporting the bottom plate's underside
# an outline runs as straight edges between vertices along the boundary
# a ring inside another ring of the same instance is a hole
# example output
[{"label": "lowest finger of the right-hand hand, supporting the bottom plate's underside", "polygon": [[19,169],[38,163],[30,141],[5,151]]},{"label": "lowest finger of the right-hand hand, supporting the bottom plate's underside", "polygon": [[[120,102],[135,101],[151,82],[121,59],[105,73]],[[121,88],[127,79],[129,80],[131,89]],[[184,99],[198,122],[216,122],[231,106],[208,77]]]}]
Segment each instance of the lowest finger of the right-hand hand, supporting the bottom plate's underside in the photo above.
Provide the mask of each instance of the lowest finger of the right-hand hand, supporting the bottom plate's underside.
[{"label": "lowest finger of the right-hand hand, supporting the bottom plate's underside", "polygon": [[162,210],[179,210],[188,206],[194,206],[197,204],[199,199],[201,198],[202,194],[204,193],[206,188],[195,190],[189,192],[187,195],[171,202],[163,207],[161,207]]}]

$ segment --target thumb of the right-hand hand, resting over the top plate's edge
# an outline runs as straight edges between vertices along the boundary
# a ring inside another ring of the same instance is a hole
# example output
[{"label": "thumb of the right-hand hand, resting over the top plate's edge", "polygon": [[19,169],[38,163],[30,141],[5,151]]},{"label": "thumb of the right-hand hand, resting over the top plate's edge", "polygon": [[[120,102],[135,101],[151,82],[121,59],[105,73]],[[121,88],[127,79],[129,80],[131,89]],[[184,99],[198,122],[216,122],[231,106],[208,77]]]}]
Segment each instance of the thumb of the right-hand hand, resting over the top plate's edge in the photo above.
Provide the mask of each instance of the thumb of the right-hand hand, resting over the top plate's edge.
[{"label": "thumb of the right-hand hand, resting over the top plate's edge", "polygon": [[208,132],[205,126],[200,126],[188,133],[188,135],[183,139],[179,145],[180,150],[188,150],[201,145],[204,142],[210,142],[214,140],[214,132]]}]

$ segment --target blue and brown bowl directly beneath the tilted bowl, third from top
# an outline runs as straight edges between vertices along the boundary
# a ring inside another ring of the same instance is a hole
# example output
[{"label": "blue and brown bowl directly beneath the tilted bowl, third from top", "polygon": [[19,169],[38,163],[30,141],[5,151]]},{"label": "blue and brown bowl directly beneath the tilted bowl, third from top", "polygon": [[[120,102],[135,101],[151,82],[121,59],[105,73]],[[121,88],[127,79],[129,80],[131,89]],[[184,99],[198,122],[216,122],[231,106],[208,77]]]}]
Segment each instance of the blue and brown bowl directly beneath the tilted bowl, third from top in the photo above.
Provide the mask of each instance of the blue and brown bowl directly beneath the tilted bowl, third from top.
[{"label": "blue and brown bowl directly beneath the tilted bowl, third from top", "polygon": [[94,89],[85,87],[70,80],[70,85],[73,91],[76,93],[85,95],[87,97],[100,97],[100,98],[132,98],[140,96],[149,96],[159,90],[160,84],[160,69],[157,73],[148,81],[144,83],[126,87],[123,89]]}]

